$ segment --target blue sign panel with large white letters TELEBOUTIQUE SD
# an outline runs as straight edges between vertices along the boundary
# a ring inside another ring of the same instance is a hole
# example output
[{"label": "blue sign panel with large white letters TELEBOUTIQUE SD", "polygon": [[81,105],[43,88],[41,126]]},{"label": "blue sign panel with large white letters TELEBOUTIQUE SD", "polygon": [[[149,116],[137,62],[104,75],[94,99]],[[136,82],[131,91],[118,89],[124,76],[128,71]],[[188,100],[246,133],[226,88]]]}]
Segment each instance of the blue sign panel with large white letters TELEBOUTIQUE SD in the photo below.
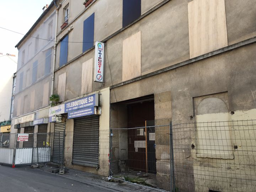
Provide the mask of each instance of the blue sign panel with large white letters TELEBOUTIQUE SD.
[{"label": "blue sign panel with large white letters TELEBOUTIQUE SD", "polygon": [[75,101],[65,103],[65,113],[86,107],[98,106],[98,104],[98,94],[88,95]]}]

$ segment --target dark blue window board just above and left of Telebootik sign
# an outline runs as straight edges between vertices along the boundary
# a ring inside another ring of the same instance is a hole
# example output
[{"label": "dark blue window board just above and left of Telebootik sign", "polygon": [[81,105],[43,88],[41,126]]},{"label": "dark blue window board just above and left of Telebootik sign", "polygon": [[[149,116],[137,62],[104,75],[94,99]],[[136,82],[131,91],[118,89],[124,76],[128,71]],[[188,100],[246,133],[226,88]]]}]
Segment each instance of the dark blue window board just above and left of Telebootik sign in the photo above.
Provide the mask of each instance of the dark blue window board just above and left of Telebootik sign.
[{"label": "dark blue window board just above and left of Telebootik sign", "polygon": [[94,45],[94,13],[84,20],[83,52]]}]

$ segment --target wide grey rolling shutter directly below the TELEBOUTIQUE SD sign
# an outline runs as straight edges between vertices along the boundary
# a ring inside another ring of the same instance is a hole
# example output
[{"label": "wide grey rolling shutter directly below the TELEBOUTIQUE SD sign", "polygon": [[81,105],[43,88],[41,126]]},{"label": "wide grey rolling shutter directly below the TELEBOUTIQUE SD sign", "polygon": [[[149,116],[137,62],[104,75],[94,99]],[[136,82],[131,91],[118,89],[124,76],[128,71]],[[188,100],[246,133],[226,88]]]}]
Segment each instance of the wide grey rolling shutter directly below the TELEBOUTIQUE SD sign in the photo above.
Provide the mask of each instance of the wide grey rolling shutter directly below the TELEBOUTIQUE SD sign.
[{"label": "wide grey rolling shutter directly below the TELEBOUTIQUE SD sign", "polygon": [[99,126],[98,115],[74,119],[73,164],[98,167]]}]

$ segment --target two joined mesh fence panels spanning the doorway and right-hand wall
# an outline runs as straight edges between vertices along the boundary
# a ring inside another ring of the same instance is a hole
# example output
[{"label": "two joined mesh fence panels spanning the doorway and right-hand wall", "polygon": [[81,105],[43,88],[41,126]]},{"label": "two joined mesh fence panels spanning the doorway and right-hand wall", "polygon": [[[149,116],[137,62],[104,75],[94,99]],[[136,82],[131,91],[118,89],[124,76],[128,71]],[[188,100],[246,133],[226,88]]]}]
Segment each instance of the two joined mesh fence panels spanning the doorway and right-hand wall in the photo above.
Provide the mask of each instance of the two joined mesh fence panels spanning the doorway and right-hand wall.
[{"label": "two joined mesh fence panels spanning the doorway and right-hand wall", "polygon": [[255,191],[256,120],[111,129],[110,175],[155,190]]}]

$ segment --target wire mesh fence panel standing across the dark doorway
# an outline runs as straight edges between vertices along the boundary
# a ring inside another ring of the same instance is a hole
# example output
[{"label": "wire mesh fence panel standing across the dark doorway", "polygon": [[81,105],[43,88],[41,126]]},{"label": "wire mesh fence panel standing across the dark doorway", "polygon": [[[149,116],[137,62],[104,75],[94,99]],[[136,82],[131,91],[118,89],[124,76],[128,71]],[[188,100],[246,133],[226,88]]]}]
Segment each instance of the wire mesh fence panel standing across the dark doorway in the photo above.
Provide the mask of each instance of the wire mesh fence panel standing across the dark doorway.
[{"label": "wire mesh fence panel standing across the dark doorway", "polygon": [[161,172],[168,177],[165,188],[170,189],[170,125],[145,125],[148,126],[111,129],[111,175],[157,188],[161,187],[157,185]]}]

